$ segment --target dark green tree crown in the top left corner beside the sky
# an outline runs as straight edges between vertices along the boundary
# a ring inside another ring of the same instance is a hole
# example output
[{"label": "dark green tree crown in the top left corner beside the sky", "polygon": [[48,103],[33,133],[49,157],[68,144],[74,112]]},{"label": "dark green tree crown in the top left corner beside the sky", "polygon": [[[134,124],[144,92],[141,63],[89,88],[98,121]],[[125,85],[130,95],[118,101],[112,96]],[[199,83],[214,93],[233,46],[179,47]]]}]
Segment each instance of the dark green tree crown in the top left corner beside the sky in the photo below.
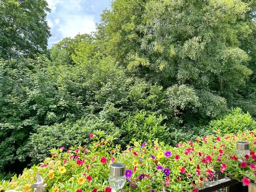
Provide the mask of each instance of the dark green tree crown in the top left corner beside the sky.
[{"label": "dark green tree crown in the top left corner beside the sky", "polygon": [[0,57],[4,59],[47,51],[50,36],[46,0],[0,0]]}]

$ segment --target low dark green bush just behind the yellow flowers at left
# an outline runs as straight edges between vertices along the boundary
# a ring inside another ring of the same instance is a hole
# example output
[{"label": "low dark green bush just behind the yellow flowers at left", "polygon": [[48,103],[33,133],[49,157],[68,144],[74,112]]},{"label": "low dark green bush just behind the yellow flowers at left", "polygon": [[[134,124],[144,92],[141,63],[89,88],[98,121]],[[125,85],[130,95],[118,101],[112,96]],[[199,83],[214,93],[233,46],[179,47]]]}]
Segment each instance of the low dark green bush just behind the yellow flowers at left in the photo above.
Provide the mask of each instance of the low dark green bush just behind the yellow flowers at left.
[{"label": "low dark green bush just behind the yellow flowers at left", "polygon": [[67,121],[38,127],[37,132],[30,135],[24,150],[32,158],[32,163],[38,163],[50,155],[49,150],[52,148],[89,144],[90,133],[97,130],[103,131],[106,135],[120,136],[120,130],[112,122],[87,116],[75,123]]}]

